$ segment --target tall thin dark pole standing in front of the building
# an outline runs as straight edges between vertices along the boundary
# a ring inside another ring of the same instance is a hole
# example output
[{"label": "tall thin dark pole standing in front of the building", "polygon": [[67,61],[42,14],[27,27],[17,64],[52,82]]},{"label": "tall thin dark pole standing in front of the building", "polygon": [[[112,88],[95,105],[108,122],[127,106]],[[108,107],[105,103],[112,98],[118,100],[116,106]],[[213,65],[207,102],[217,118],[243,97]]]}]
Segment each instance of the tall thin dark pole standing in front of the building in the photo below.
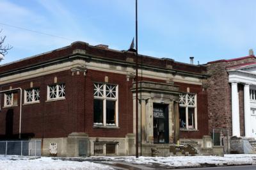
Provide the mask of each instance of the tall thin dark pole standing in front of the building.
[{"label": "tall thin dark pole standing in front of the building", "polygon": [[139,146],[138,146],[138,4],[136,0],[136,36],[135,36],[135,42],[136,42],[136,158],[139,157]]}]

